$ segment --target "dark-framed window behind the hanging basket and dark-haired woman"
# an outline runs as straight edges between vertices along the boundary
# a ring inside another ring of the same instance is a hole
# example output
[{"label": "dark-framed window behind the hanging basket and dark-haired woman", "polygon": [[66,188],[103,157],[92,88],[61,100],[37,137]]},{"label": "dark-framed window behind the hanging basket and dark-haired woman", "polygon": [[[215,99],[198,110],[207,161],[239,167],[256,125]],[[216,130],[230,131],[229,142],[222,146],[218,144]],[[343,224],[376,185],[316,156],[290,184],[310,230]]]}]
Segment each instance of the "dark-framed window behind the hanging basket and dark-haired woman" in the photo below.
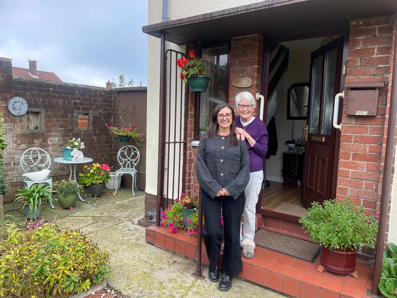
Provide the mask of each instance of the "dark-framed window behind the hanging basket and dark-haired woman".
[{"label": "dark-framed window behind the hanging basket and dark-haired woman", "polygon": [[[201,58],[207,67],[209,80],[205,93],[199,93],[196,111],[199,115],[195,123],[195,136],[199,137],[206,131],[211,119],[211,113],[220,102],[228,101],[228,46],[202,49]],[[197,123],[198,122],[198,123]]]}]

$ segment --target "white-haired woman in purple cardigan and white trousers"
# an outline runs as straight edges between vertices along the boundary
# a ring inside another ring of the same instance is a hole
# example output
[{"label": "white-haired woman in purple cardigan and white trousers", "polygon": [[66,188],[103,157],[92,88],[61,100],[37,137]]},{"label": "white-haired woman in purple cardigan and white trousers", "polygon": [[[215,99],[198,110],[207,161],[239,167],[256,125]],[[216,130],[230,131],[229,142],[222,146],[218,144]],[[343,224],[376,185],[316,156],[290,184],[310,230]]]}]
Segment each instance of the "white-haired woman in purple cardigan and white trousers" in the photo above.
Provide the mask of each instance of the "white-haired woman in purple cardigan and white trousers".
[{"label": "white-haired woman in purple cardigan and white trousers", "polygon": [[254,257],[255,250],[255,208],[264,180],[263,158],[267,152],[267,130],[265,123],[255,118],[255,98],[250,92],[236,95],[236,108],[240,116],[236,117],[237,138],[245,140],[250,154],[250,182],[245,189],[244,227],[240,235],[243,257]]}]

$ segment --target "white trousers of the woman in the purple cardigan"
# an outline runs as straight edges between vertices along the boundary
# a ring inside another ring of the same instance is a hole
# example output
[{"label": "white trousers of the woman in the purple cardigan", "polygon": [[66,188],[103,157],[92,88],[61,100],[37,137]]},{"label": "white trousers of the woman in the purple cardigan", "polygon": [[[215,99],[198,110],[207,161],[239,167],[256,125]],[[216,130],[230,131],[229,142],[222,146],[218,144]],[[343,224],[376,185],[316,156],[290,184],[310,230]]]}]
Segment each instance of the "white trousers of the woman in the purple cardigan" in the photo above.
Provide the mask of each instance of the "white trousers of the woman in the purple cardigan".
[{"label": "white trousers of the woman in the purple cardigan", "polygon": [[258,196],[261,192],[264,172],[250,173],[250,182],[245,188],[244,224],[240,240],[254,240],[255,235],[255,211],[258,203]]}]

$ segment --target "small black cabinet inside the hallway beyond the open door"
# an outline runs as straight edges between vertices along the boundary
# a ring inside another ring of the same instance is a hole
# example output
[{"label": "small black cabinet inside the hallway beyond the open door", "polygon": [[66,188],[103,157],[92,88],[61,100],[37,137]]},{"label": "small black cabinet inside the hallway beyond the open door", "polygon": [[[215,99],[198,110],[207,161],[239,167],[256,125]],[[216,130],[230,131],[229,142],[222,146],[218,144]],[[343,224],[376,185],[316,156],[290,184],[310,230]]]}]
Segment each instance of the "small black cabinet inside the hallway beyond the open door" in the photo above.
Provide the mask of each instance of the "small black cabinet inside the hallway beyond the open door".
[{"label": "small black cabinet inside the hallway beyond the open door", "polygon": [[282,152],[282,175],[284,178],[283,186],[285,186],[286,178],[294,181],[299,180],[302,187],[303,174],[303,157],[304,152]]}]

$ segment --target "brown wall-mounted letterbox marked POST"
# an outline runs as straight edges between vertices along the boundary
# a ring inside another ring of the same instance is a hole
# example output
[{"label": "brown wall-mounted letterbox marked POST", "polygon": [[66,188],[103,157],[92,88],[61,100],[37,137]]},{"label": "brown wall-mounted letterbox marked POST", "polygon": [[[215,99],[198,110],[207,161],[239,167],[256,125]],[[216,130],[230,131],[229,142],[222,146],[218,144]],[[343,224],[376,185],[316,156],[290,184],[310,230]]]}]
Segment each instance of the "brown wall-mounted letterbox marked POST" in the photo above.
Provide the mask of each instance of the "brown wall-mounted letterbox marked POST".
[{"label": "brown wall-mounted letterbox marked POST", "polygon": [[384,81],[347,82],[347,115],[376,116],[378,112],[379,89]]}]

